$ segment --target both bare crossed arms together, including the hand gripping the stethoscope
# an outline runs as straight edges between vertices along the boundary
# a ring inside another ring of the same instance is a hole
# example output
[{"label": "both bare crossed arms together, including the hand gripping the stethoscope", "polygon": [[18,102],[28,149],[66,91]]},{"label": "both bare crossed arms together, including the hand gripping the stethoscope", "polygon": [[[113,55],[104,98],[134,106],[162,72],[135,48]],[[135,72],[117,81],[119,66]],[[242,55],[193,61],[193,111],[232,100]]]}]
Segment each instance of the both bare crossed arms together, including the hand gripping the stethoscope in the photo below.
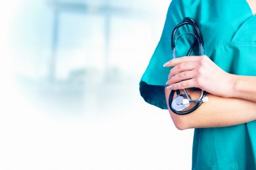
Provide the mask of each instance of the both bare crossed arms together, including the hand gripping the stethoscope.
[{"label": "both bare crossed arms together, including the hand gripping the stethoscope", "polygon": [[[202,68],[203,65],[206,67]],[[256,120],[256,76],[230,75],[209,61],[207,56],[173,59],[165,64],[165,67],[168,66],[175,66],[167,81],[171,86],[165,87],[168,109],[171,90],[198,87],[210,92],[207,93],[209,102],[203,103],[191,114],[180,116],[169,109],[178,129],[234,126]],[[203,70],[204,75],[196,69]],[[190,89],[188,93],[192,99],[200,95],[200,91]]]}]

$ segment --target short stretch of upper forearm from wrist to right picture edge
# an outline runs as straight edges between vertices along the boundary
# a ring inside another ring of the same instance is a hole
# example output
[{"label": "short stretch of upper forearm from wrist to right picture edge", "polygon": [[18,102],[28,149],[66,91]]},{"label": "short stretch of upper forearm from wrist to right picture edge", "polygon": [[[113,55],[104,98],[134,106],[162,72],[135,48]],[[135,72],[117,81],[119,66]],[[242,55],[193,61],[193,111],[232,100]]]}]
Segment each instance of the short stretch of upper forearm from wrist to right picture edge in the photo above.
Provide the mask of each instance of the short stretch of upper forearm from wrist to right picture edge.
[{"label": "short stretch of upper forearm from wrist to right picture edge", "polygon": [[256,76],[233,75],[234,88],[232,96],[256,102]]}]

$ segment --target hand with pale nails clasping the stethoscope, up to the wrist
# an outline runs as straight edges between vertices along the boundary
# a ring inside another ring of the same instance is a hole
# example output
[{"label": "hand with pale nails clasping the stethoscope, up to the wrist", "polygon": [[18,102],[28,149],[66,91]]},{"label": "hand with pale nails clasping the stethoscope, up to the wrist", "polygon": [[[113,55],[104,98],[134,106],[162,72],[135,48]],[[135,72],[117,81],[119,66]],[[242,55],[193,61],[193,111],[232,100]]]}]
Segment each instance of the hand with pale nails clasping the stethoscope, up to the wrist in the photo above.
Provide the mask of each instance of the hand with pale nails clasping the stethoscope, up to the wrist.
[{"label": "hand with pale nails clasping the stethoscope, up to the wrist", "polygon": [[234,78],[218,67],[207,56],[185,56],[175,58],[163,65],[173,67],[168,76],[167,88],[179,90],[200,88],[213,95],[232,96]]}]

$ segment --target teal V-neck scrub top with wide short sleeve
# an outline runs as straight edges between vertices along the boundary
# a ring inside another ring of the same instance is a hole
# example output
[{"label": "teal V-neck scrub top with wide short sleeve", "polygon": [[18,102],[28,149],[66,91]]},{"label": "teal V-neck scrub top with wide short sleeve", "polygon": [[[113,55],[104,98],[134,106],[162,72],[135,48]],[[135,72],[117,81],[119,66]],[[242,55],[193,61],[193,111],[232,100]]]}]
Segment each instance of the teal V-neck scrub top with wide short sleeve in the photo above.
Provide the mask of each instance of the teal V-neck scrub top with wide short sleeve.
[{"label": "teal V-neck scrub top with wide short sleeve", "polygon": [[[196,20],[205,55],[219,67],[235,75],[256,76],[256,15],[247,1],[173,0],[160,42],[139,83],[143,99],[161,109],[167,109],[164,87],[171,69],[163,63],[173,58],[171,31],[184,17]],[[193,31],[184,26],[179,33],[188,30]],[[177,41],[178,56],[186,55],[189,43],[189,38]],[[256,121],[194,129],[192,169],[256,169]]]}]

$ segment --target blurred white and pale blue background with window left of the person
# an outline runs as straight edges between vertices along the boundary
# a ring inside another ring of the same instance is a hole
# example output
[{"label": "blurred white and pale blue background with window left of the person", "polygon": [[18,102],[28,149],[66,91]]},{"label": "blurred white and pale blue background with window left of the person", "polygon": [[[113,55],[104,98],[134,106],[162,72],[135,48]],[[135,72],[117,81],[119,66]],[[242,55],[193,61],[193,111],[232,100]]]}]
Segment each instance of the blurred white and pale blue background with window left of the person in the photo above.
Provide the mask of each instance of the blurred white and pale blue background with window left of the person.
[{"label": "blurred white and pale blue background with window left of the person", "polygon": [[139,93],[170,2],[2,1],[0,169],[190,169]]}]

